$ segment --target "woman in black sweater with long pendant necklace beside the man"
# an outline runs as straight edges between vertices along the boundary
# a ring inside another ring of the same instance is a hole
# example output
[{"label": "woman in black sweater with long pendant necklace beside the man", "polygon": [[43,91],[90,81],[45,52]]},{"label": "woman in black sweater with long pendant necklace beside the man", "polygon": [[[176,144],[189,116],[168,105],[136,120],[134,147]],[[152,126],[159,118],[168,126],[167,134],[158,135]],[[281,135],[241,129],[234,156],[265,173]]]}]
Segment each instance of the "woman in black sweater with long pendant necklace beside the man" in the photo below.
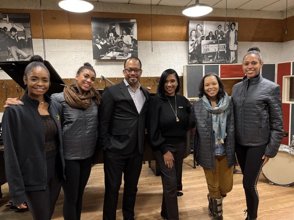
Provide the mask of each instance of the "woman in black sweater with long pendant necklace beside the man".
[{"label": "woman in black sweater with long pendant necklace beside the man", "polygon": [[179,219],[177,182],[182,178],[185,135],[189,118],[189,101],[179,92],[179,76],[165,70],[156,95],[148,104],[147,129],[156,162],[160,168],[163,198],[160,215]]}]

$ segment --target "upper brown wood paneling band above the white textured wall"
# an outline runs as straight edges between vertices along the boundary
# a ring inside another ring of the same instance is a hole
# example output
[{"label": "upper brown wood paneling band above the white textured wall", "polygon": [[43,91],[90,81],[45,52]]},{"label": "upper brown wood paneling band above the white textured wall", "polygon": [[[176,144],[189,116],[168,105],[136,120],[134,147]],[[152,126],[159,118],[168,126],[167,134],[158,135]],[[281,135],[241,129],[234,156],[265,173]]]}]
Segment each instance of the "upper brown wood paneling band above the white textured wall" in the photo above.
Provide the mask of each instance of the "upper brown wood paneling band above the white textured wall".
[{"label": "upper brown wood paneling band above the white textured wall", "polygon": [[[29,13],[33,38],[42,38],[40,10],[0,9],[2,13]],[[45,39],[91,40],[91,17],[137,19],[138,40],[151,40],[151,19],[148,14],[87,12],[72,13],[64,10],[43,10]],[[224,17],[190,18],[176,15],[152,15],[153,41],[188,41],[189,20],[225,21]],[[239,22],[239,41],[283,42],[294,39],[294,16],[287,21],[288,34],[284,34],[285,20],[261,18],[227,18]]]}]

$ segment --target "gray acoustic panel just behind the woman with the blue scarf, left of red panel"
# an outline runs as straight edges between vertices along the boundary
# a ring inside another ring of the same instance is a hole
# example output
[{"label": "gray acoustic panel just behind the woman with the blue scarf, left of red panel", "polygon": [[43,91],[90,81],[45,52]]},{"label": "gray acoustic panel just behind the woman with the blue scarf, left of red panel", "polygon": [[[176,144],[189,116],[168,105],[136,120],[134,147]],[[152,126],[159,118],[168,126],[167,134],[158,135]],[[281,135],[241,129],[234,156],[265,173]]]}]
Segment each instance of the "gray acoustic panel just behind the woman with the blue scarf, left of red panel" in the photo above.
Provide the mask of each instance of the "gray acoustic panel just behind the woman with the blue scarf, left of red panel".
[{"label": "gray acoustic panel just behind the woman with the blue scarf, left of red panel", "polygon": [[197,98],[199,83],[203,77],[203,65],[187,66],[187,96]]}]

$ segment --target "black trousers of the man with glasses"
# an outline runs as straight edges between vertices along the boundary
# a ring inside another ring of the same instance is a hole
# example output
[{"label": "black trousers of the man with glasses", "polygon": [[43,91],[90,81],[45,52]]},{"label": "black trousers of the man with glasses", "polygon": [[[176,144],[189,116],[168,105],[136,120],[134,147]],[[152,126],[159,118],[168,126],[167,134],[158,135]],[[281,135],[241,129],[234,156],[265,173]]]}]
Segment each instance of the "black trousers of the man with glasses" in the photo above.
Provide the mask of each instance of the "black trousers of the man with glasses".
[{"label": "black trousers of the man with glasses", "polygon": [[105,194],[103,204],[103,219],[114,220],[119,198],[119,188],[124,180],[123,188],[123,217],[134,218],[134,207],[137,185],[142,169],[143,155],[138,147],[134,152],[123,155],[110,152],[106,149],[103,153]]}]

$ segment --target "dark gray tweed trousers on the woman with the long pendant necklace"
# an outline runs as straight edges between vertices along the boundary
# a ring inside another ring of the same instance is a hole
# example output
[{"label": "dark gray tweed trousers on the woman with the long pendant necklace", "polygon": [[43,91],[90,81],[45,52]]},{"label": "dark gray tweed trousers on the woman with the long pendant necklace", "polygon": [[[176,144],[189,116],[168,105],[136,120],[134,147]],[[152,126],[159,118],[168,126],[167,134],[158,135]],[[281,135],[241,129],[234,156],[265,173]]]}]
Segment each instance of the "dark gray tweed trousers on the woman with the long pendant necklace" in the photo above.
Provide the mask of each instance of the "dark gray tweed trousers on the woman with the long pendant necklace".
[{"label": "dark gray tweed trousers on the woman with the long pendant necklace", "polygon": [[163,187],[163,196],[161,204],[161,216],[168,220],[179,219],[177,184],[182,182],[183,159],[185,152],[185,143],[176,145],[166,145],[172,153],[175,161],[174,167],[169,169],[165,163],[162,153],[154,151],[154,157],[159,166],[161,181]]}]

